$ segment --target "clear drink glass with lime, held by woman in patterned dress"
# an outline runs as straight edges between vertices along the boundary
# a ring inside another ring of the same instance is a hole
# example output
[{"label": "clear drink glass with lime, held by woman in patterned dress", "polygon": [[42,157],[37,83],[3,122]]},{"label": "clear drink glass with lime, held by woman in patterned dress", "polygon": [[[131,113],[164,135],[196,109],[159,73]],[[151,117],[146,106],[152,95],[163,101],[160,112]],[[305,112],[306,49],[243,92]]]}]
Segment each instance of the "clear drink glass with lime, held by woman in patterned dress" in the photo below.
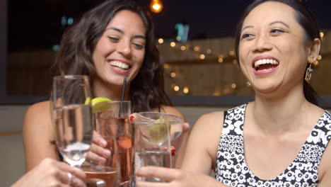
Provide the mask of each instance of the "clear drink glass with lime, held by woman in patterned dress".
[{"label": "clear drink glass with lime, held by woman in patterned dress", "polygon": [[[134,119],[135,169],[143,166],[171,168],[171,126],[182,125],[182,118],[166,113],[138,113]],[[137,180],[164,182],[153,177],[137,177]]]}]

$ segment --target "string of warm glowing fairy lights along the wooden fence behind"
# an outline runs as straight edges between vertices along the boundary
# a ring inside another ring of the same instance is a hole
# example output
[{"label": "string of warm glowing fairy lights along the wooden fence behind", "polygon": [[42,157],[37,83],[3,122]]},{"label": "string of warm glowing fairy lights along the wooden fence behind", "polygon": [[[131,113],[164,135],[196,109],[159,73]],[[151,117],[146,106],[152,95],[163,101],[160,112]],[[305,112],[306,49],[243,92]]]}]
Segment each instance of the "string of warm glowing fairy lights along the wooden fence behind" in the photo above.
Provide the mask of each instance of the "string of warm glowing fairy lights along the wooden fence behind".
[{"label": "string of warm glowing fairy lights along the wooden fence behind", "polygon": [[[324,37],[325,34],[323,32],[320,32],[320,38],[323,40]],[[180,38],[176,38],[176,40],[180,40]],[[222,54],[215,52],[211,47],[204,48],[202,47],[202,45],[188,45],[187,42],[182,43],[178,41],[165,42],[165,39],[163,38],[158,38],[158,45],[168,45],[171,50],[176,52],[192,52],[192,55],[194,55],[195,59],[193,63],[203,63],[206,60],[209,60],[209,62],[212,63],[232,63],[233,65],[238,65],[234,50],[229,50],[227,54]],[[322,60],[322,55],[318,55],[317,60],[313,62],[313,67],[318,67],[320,60]],[[185,95],[192,94],[190,91],[190,86],[178,84],[177,79],[180,79],[180,77],[178,76],[179,73],[172,68],[175,65],[176,63],[164,64],[165,76],[170,76],[170,80],[172,81],[170,83],[170,89],[172,89],[178,94],[180,94],[180,92]],[[246,86],[249,86],[246,82],[233,82],[231,84],[224,85],[223,91],[214,91],[213,95],[220,96],[222,94],[233,94],[233,91],[235,91],[236,89],[242,89]]]}]

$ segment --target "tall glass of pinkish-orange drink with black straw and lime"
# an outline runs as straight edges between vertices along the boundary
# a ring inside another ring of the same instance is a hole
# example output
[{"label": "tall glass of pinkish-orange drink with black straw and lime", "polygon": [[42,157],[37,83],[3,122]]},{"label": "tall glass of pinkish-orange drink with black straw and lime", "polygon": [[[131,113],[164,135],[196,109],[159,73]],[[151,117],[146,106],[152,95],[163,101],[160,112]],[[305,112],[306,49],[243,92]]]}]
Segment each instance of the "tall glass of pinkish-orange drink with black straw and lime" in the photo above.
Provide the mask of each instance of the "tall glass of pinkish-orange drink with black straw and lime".
[{"label": "tall glass of pinkish-orange drink with black straw and lime", "polygon": [[[99,103],[98,103],[99,104]],[[130,101],[105,101],[95,113],[95,130],[100,135],[115,137],[120,160],[120,186],[128,187],[132,182],[132,125]],[[106,140],[107,141],[107,140]]]}]

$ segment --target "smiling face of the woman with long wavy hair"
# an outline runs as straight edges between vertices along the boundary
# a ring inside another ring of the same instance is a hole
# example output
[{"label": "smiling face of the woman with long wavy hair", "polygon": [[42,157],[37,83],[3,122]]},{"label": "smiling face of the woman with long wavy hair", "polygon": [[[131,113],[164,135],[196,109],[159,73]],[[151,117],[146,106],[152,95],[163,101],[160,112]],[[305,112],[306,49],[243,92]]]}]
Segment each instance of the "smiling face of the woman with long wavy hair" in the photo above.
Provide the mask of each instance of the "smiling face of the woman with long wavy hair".
[{"label": "smiling face of the woman with long wavy hair", "polygon": [[136,77],[145,55],[146,30],[141,17],[132,11],[119,11],[108,23],[93,52],[95,79],[122,85],[124,77]]}]

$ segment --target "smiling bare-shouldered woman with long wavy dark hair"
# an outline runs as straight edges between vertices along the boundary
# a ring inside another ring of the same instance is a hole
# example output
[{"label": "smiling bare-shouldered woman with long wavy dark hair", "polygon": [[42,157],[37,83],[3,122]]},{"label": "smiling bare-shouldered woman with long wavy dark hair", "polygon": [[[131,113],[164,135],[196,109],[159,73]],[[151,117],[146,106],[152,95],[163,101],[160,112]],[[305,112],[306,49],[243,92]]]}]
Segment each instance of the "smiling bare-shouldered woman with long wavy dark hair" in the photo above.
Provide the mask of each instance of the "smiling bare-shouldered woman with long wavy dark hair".
[{"label": "smiling bare-shouldered woman with long wavy dark hair", "polygon": [[[57,57],[58,74],[85,74],[90,77],[94,97],[120,101],[124,78],[124,100],[132,112],[160,111],[184,116],[171,106],[163,89],[163,63],[158,56],[149,13],[134,1],[109,0],[84,13],[63,35]],[[183,132],[188,130],[185,123]],[[185,133],[183,133],[184,135]],[[23,125],[26,169],[42,159],[59,159],[50,118],[50,101],[36,103],[25,114]],[[175,148],[180,148],[176,140]],[[95,145],[105,147],[100,137]],[[105,162],[106,149],[95,149],[89,159]]]}]

